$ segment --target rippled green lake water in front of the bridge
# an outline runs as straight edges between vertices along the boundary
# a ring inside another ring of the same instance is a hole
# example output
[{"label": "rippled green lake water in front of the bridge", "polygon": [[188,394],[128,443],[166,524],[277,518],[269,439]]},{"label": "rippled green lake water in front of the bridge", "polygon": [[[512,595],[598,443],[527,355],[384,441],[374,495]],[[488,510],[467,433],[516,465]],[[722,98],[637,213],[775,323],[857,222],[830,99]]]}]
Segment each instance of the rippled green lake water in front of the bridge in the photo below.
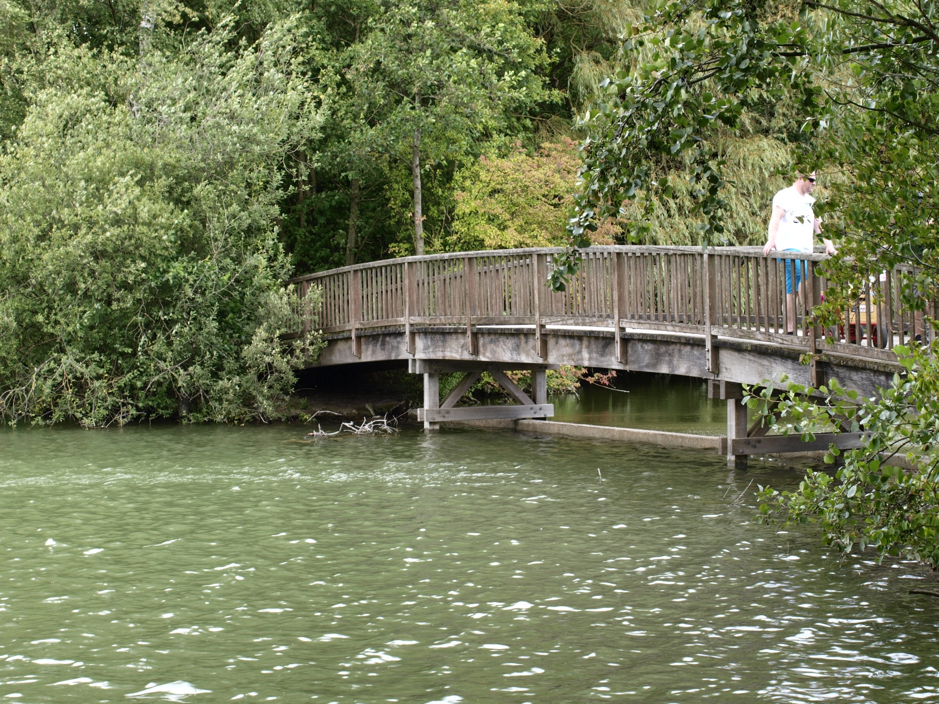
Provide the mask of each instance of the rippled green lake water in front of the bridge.
[{"label": "rippled green lake water in front of the bridge", "polygon": [[0,698],[939,699],[922,570],[749,522],[792,470],[302,432],[0,434]]}]

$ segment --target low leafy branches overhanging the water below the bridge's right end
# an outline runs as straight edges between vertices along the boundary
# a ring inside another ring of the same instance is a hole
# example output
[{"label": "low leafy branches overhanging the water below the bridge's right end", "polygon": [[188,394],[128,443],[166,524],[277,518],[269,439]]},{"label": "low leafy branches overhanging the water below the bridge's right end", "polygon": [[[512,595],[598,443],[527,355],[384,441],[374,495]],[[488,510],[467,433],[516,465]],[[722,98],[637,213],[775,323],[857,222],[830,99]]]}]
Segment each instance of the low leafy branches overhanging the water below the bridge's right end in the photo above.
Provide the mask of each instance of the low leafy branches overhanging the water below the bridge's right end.
[{"label": "low leafy branches overhanging the water below the bridge's right end", "polygon": [[[939,364],[932,348],[897,348],[905,370],[879,398],[858,398],[836,381],[818,391],[788,385],[778,403],[773,390],[751,395],[748,406],[784,434],[812,440],[819,430],[863,431],[864,446],[839,451],[825,462],[841,463],[835,476],[808,471],[794,492],[761,487],[760,520],[776,513],[795,523],[818,522],[825,543],[844,553],[872,547],[886,555],[939,566]],[[776,413],[777,420],[770,414]],[[888,461],[901,459],[902,468]]]}]

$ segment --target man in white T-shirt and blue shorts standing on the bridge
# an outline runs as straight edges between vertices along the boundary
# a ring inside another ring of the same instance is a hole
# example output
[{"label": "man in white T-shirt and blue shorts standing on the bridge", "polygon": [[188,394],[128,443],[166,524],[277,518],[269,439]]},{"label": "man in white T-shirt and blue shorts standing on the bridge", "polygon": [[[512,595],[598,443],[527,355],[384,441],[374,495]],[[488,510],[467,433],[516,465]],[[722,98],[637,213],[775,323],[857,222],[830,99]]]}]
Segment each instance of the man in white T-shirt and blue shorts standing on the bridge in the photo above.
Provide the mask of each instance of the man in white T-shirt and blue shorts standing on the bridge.
[{"label": "man in white T-shirt and blue shorts standing on the bridge", "polygon": [[[769,221],[769,237],[763,247],[763,254],[773,250],[812,253],[815,233],[822,233],[822,221],[815,217],[812,210],[815,199],[811,192],[814,190],[813,171],[807,177],[798,176],[792,186],[773,196],[773,217]],[[822,241],[825,253],[834,254],[835,245],[832,241],[824,237]],[[790,335],[795,325],[795,294],[799,292],[799,284],[807,273],[804,260],[786,260],[786,327]]]}]

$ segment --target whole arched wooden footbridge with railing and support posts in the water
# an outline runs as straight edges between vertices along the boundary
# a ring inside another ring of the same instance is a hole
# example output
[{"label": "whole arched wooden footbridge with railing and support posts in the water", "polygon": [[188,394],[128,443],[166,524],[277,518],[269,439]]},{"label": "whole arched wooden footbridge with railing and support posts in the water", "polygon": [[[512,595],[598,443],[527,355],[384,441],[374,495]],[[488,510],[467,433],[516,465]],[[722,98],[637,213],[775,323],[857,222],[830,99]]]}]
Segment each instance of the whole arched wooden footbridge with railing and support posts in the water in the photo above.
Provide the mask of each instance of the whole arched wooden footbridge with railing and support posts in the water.
[{"label": "whole arched wooden footbridge with railing and support posts in the water", "polygon": [[[873,395],[900,367],[892,348],[931,330],[901,306],[897,272],[885,272],[846,311],[839,326],[808,324],[807,310],[827,281],[824,254],[759,248],[592,247],[567,290],[546,286],[560,249],[413,256],[336,268],[293,280],[301,299],[319,289],[307,329],[326,340],[314,366],[397,362],[423,374],[418,419],[440,421],[548,418],[546,370],[562,364],[709,379],[728,402],[724,443],[731,464],[747,454],[804,451],[798,438],[760,437],[747,428],[741,384],[780,381],[807,386],[831,377]],[[787,305],[786,267],[808,267]],[[793,334],[788,334],[789,330]],[[531,396],[505,375],[532,373]],[[487,371],[517,404],[456,407]],[[439,375],[462,372],[442,401]],[[764,432],[763,432],[764,435]],[[856,442],[839,436],[839,443]],[[827,438],[820,438],[827,448]]]}]

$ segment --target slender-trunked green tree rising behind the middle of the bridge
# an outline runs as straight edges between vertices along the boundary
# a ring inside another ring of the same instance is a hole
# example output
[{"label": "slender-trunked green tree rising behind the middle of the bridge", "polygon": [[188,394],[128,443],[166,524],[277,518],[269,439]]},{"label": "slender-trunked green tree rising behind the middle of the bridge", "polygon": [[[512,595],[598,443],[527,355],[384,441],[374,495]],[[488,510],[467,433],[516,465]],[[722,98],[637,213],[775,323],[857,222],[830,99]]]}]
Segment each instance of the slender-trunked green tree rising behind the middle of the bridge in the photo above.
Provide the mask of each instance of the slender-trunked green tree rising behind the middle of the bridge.
[{"label": "slender-trunked green tree rising behind the middle of the bridge", "polygon": [[349,69],[363,151],[408,164],[414,250],[424,252],[423,176],[521,126],[550,97],[536,73],[541,42],[503,0],[390,4],[355,47]]}]

